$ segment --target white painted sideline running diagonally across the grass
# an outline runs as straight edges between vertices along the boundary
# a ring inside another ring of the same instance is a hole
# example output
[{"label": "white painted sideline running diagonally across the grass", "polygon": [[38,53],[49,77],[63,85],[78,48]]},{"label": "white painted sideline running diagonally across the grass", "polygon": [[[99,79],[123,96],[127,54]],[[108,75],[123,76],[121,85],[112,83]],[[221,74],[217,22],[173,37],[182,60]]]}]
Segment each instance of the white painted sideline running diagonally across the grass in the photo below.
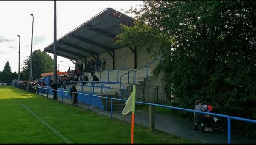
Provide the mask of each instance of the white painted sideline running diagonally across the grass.
[{"label": "white painted sideline running diagonally across the grass", "polygon": [[[9,95],[13,97],[12,94],[9,93]],[[23,106],[27,111],[29,111],[32,115],[34,115],[38,120],[41,121],[41,123],[43,123],[44,125],[46,125],[50,130],[52,130],[52,132],[54,132],[56,135],[58,135],[58,137],[60,137],[61,139],[63,139],[65,142],[67,143],[73,143],[71,142],[69,139],[67,139],[66,137],[64,137],[60,132],[58,132],[55,128],[53,128],[51,125],[49,125],[47,122],[45,122],[41,117],[39,117],[37,114],[35,114],[33,111],[31,111],[29,108],[27,108],[25,105],[23,105],[23,103],[21,103],[19,100],[17,100],[16,98],[14,98],[21,106]]]}]

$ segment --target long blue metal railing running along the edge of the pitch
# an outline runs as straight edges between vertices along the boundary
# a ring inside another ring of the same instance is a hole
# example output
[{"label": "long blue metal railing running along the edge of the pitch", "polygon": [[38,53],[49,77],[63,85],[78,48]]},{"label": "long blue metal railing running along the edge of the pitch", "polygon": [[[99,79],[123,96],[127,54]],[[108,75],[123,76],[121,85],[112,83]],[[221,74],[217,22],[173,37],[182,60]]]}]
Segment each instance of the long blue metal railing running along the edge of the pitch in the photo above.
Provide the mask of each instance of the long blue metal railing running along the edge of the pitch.
[{"label": "long blue metal railing running along the edge of the pitch", "polygon": [[[42,89],[48,89],[48,88],[38,87],[38,89],[42,90]],[[49,89],[49,90],[53,90],[53,89]],[[62,91],[62,90],[55,90],[55,91],[57,91],[57,92],[58,91],[59,92],[65,92],[65,91]],[[106,98],[106,100],[107,99],[111,99],[111,118],[112,118],[112,115],[113,115],[113,100],[126,101],[126,100],[123,100],[123,99],[109,98],[109,97],[97,96],[97,95],[92,95],[92,94],[84,94],[84,93],[79,93],[79,92],[76,93],[76,94],[87,95],[88,96],[88,100],[90,99],[90,97]],[[216,117],[227,118],[227,143],[229,143],[229,144],[231,143],[231,119],[245,121],[245,122],[250,122],[250,123],[256,123],[256,120],[246,119],[246,118],[241,118],[241,117],[233,117],[233,116],[228,116],[228,115],[222,115],[222,114],[216,114],[216,113],[210,113],[210,112],[202,112],[202,111],[196,111],[196,110],[192,110],[192,109],[184,109],[184,108],[173,107],[173,106],[166,106],[166,105],[160,105],[160,104],[154,104],[154,103],[145,103],[145,102],[138,102],[138,101],[135,101],[135,102],[139,103],[139,104],[145,104],[145,105],[151,105],[151,106],[159,106],[159,107],[164,107],[164,108],[169,108],[169,109],[176,109],[176,110],[187,111],[187,112],[195,112],[195,113],[200,113],[200,114],[209,114],[209,115],[216,116]],[[89,110],[89,106],[90,105],[88,105],[88,110]]]}]

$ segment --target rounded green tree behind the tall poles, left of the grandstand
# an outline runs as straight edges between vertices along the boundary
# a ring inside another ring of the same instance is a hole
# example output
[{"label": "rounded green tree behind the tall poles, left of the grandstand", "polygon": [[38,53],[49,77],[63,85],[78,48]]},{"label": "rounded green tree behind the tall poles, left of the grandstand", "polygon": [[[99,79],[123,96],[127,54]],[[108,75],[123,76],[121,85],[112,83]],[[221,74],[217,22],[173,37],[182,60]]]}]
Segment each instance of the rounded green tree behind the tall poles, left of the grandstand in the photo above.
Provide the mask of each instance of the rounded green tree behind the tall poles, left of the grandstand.
[{"label": "rounded green tree behind the tall poles, left of the grandstand", "polygon": [[[35,50],[32,53],[32,78],[38,79],[41,76],[41,73],[52,72],[53,70],[53,60],[46,52],[41,50]],[[23,61],[23,80],[29,79],[29,67],[30,67],[30,56]]]}]

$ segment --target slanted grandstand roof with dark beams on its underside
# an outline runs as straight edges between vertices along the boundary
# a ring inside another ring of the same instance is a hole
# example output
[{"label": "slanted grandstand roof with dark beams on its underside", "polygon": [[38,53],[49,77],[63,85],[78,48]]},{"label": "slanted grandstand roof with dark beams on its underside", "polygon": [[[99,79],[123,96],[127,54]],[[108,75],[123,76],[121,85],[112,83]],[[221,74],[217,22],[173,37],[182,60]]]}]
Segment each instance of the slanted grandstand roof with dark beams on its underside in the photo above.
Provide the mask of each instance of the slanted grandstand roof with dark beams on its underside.
[{"label": "slanted grandstand roof with dark beams on its underside", "polygon": [[[57,40],[57,55],[67,59],[98,58],[99,53],[108,52],[114,60],[114,51],[126,47],[114,44],[113,38],[122,33],[120,23],[133,26],[134,19],[112,8],[106,8],[90,20]],[[53,54],[53,43],[44,48]]]}]

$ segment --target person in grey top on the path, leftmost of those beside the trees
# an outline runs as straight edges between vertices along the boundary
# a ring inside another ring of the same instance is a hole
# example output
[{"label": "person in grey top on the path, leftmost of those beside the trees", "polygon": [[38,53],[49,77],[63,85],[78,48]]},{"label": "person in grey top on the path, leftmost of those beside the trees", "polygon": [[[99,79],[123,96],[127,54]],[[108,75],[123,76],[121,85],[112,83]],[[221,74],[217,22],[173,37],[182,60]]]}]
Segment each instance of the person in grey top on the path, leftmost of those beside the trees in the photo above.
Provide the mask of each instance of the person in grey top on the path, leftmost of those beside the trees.
[{"label": "person in grey top on the path, leftmost of those beside the trees", "polygon": [[[196,100],[194,110],[205,111],[206,108],[203,108],[202,104],[203,104],[203,102],[200,99]],[[203,114],[194,112],[194,125],[195,125],[196,131],[198,131],[198,129],[197,129],[198,124],[201,124],[202,131],[206,132],[204,130],[205,126],[204,126]]]}]

